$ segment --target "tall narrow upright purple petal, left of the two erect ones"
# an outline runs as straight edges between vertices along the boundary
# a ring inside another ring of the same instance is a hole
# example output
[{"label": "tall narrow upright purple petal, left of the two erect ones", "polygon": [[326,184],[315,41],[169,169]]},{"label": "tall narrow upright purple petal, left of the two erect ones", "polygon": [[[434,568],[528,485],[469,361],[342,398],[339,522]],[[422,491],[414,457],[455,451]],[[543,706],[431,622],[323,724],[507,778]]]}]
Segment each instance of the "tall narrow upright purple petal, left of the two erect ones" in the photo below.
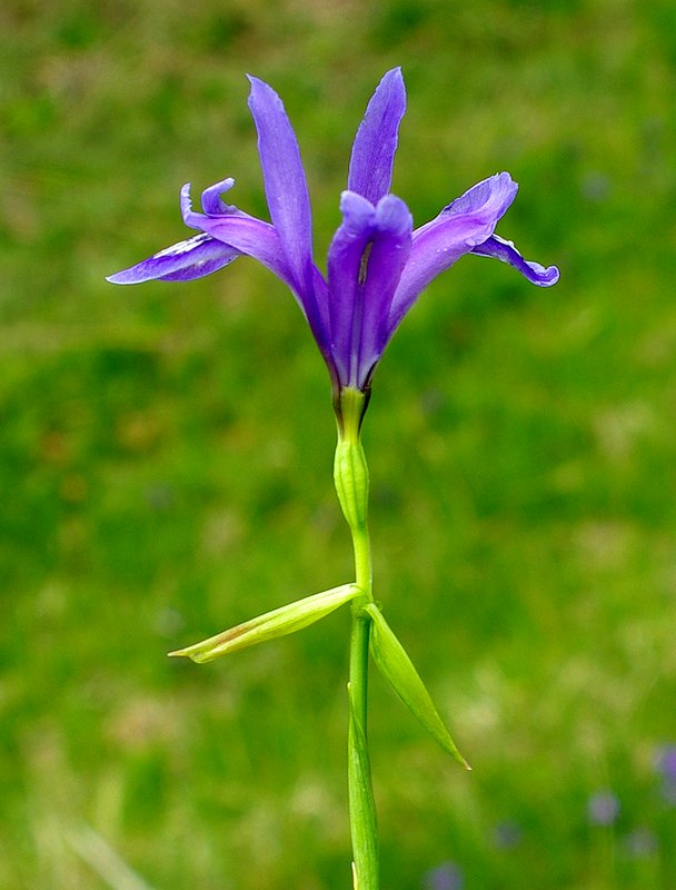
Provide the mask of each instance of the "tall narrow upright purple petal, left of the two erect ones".
[{"label": "tall narrow upright purple petal, left of the two erect ones", "polygon": [[256,77],[249,81],[270,218],[296,293],[302,294],[312,283],[312,220],[298,142],[279,96]]}]

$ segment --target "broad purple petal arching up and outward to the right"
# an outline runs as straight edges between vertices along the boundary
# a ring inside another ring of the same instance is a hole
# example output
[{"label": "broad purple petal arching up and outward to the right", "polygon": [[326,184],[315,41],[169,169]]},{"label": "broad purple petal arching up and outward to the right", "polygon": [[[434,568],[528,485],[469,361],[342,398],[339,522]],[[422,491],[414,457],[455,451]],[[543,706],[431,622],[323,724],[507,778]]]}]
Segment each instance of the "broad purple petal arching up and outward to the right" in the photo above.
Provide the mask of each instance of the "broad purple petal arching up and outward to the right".
[{"label": "broad purple petal arching up and outward to the right", "polygon": [[518,186],[509,174],[496,174],[451,201],[431,221],[414,231],[410,258],[392,300],[391,330],[440,273],[494,233],[514,200]]}]

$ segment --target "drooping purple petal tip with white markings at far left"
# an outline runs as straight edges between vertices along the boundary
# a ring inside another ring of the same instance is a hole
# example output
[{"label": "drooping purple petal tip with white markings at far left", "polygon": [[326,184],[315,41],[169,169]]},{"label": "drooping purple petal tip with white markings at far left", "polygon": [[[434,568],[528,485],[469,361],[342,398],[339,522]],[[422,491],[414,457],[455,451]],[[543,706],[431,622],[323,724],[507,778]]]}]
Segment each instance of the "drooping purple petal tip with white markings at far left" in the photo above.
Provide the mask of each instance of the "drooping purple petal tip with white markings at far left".
[{"label": "drooping purple petal tip with white markings at far left", "polygon": [[222,269],[238,256],[239,250],[202,233],[167,247],[129,269],[108,276],[107,280],[113,285],[137,285],[151,280],[190,281]]}]

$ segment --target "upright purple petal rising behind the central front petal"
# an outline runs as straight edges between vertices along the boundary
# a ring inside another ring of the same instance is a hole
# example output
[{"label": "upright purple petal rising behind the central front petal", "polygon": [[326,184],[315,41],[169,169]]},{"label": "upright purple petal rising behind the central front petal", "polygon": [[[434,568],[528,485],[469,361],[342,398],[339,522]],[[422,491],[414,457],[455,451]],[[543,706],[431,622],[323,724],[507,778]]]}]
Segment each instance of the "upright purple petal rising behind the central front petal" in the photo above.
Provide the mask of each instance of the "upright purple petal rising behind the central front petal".
[{"label": "upright purple petal rising behind the central front petal", "polygon": [[390,189],[399,123],[405,112],[404,78],[401,69],[394,68],[378,83],[359,125],[347,180],[350,191],[374,205]]}]

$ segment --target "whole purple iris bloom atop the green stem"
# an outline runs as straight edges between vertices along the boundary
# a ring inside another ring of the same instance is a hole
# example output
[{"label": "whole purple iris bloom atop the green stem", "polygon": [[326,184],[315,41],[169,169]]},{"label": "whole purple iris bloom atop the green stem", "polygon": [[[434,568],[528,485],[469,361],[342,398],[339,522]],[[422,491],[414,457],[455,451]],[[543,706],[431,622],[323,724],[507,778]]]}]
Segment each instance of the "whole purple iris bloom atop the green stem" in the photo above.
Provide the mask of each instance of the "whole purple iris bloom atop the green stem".
[{"label": "whole purple iris bloom atop the green stem", "polygon": [[389,190],[406,110],[399,68],[385,75],[357,131],[340,198],[342,222],[329,247],[325,277],[312,259],[310,200],[296,136],[271,87],[255,77],[249,80],[271,222],[223,202],[232,179],[202,192],[201,214],[192,209],[190,186],[183,186],[183,220],[199,234],[111,275],[109,281],[187,281],[241,254],[254,257],[294,293],[339,395],[346,387],[368,393],[376,365],[406,313],[433,278],[464,254],[508,263],[540,287],[558,280],[555,266],[525,260],[510,241],[495,235],[517,192],[509,174],[477,184],[414,229],[408,207]]}]

